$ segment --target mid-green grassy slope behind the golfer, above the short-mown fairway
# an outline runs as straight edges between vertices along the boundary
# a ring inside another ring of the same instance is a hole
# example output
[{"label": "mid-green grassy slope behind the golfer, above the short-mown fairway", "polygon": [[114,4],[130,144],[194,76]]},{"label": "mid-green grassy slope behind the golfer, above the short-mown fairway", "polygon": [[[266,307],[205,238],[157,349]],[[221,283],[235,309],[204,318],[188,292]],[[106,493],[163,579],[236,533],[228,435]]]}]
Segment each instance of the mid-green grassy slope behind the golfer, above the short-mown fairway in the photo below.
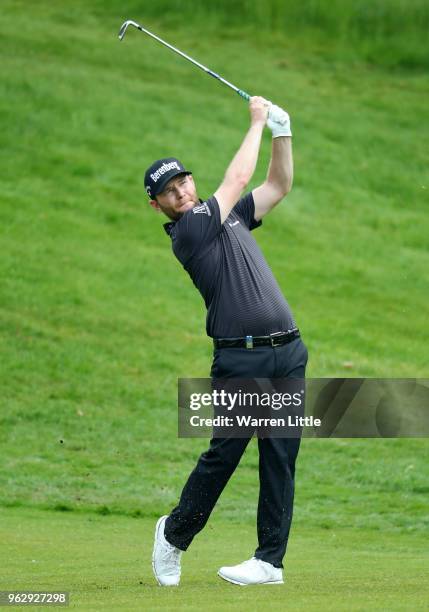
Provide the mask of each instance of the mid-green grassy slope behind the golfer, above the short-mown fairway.
[{"label": "mid-green grassy slope behind the golfer, above the short-mown fairway", "polygon": [[[207,374],[211,348],[202,300],[145,205],[143,170],[174,152],[208,195],[247,111],[137,32],[120,44],[82,7],[65,19],[38,3],[28,19],[9,4],[1,25],[2,500],[153,514],[201,449],[171,445],[175,389],[178,376]],[[220,58],[186,28],[165,35],[290,110],[295,185],[258,240],[309,347],[309,374],[427,375],[426,79],[345,68],[286,39],[279,60],[274,43],[261,53],[251,39],[219,39]],[[255,184],[268,155],[267,135]],[[420,499],[424,441],[355,441],[338,454],[339,443],[306,442],[302,499],[313,461],[333,488],[352,466],[349,483],[369,493],[379,457],[394,472],[412,455],[400,483]],[[400,525],[401,503],[387,524]],[[407,528],[422,525],[419,503]],[[320,512],[330,524],[329,505]]]}]

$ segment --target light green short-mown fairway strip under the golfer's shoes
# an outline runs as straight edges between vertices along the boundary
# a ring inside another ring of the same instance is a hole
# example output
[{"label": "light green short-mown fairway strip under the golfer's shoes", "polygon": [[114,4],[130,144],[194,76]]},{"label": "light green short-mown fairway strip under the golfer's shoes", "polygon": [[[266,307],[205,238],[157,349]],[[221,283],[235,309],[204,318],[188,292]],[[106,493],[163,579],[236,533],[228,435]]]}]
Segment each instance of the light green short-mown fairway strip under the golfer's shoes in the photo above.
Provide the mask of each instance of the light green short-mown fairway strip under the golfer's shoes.
[{"label": "light green short-mown fairway strip under the golfer's shoes", "polygon": [[151,573],[154,522],[127,517],[0,510],[8,563],[0,589],[66,590],[85,610],[424,610],[427,546],[415,536],[360,529],[300,529],[285,585],[237,587],[219,566],[249,556],[254,530],[213,520],[183,556],[179,588]]}]

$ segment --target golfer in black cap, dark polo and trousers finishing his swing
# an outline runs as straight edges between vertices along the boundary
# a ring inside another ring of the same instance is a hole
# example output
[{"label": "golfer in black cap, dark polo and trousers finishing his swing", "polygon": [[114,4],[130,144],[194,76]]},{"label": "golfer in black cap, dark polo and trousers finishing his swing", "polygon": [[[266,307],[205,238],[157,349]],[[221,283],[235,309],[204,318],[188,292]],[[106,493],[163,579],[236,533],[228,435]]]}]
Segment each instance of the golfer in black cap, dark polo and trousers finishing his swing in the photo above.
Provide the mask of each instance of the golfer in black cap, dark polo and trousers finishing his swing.
[{"label": "golfer in black cap, dark polo and trousers finishing his swing", "polygon": [[[172,157],[148,168],[145,188],[151,206],[169,218],[164,227],[173,252],[204,298],[214,342],[212,378],[304,378],[307,349],[251,233],[292,186],[289,115],[258,96],[250,98],[249,110],[250,127],[212,197],[200,200],[191,172]],[[265,125],[273,135],[267,178],[242,196]],[[213,438],[178,505],[159,519],[152,564],[160,585],[179,584],[182,551],[207,523],[248,443]],[[258,546],[249,560],[220,568],[221,578],[239,585],[283,583],[299,444],[299,438],[258,439]]]}]

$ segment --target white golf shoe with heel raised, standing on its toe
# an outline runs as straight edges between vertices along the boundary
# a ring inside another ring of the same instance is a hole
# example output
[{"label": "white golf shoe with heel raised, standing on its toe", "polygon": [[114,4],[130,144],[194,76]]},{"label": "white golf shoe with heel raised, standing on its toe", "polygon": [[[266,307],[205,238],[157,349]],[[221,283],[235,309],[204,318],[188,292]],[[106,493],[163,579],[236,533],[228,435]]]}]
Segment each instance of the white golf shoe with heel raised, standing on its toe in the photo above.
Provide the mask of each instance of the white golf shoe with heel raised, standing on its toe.
[{"label": "white golf shoe with heel raised, standing on its toe", "polygon": [[167,516],[161,516],[155,527],[152,568],[155,578],[161,586],[177,586],[180,582],[180,557],[182,551],[164,537],[164,525]]}]

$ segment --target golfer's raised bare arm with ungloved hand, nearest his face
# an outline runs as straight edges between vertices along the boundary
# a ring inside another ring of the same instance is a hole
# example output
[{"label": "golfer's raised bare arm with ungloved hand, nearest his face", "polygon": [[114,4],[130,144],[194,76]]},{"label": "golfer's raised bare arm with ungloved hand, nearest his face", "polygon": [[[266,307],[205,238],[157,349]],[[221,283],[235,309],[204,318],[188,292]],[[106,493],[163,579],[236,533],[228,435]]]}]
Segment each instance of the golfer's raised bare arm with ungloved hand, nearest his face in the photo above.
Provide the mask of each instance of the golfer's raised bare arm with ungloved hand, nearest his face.
[{"label": "golfer's raised bare arm with ungloved hand, nearest his face", "polygon": [[256,168],[262,132],[267,120],[269,103],[259,96],[250,98],[250,128],[228,166],[225,177],[214,196],[220,208],[221,223],[240,199]]}]

